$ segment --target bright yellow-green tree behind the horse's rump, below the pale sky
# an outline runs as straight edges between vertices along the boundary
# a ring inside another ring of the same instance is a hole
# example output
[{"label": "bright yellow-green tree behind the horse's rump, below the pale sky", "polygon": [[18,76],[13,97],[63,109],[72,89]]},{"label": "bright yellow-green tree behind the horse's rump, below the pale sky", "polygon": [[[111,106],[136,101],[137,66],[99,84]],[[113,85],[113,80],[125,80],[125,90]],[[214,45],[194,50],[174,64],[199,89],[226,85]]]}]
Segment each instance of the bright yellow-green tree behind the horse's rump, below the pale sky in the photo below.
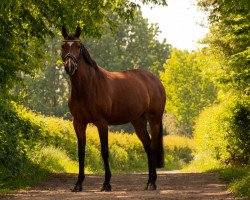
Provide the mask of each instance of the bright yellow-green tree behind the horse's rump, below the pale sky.
[{"label": "bright yellow-green tree behind the horse's rump, below the pale sky", "polygon": [[166,89],[166,120],[172,121],[171,134],[191,136],[195,118],[216,98],[216,88],[203,75],[209,62],[201,52],[173,50],[164,65],[161,79]]}]

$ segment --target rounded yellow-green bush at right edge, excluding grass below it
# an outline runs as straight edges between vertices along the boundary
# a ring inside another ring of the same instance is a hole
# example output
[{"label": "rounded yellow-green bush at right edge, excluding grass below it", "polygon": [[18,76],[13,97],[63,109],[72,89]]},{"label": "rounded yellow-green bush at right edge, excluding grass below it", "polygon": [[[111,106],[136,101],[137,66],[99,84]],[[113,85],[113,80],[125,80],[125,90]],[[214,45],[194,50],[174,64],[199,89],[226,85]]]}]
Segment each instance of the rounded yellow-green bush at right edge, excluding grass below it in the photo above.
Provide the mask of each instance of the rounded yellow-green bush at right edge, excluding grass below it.
[{"label": "rounded yellow-green bush at right edge, excluding grass below it", "polygon": [[249,101],[231,97],[208,107],[195,125],[195,157],[211,157],[222,164],[246,165],[250,155],[249,126]]}]

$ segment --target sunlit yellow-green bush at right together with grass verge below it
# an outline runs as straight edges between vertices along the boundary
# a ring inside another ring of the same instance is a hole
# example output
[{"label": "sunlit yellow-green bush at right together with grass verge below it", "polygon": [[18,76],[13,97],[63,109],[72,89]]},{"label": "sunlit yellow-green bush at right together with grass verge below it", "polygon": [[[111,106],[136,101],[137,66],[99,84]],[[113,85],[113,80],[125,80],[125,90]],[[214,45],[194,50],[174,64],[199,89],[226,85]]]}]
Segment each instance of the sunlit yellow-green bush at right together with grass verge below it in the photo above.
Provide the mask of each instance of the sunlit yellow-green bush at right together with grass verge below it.
[{"label": "sunlit yellow-green bush at right together with grass verge below it", "polygon": [[229,190],[250,197],[249,100],[233,95],[223,100],[201,112],[194,131],[194,160],[184,171],[219,172]]}]

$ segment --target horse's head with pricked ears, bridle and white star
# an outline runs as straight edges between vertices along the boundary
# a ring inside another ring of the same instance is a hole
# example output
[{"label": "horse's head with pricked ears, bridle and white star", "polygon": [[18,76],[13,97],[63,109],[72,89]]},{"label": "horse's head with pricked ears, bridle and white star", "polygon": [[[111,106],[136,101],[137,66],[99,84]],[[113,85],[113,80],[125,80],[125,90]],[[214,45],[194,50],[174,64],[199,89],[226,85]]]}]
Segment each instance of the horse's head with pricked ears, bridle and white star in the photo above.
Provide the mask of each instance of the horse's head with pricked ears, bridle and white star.
[{"label": "horse's head with pricked ears, bridle and white star", "polygon": [[62,41],[62,60],[65,71],[73,76],[77,70],[80,58],[82,55],[82,44],[79,39],[81,29],[79,26],[76,28],[75,33],[68,34],[66,28],[62,27],[62,35],[64,40]]}]

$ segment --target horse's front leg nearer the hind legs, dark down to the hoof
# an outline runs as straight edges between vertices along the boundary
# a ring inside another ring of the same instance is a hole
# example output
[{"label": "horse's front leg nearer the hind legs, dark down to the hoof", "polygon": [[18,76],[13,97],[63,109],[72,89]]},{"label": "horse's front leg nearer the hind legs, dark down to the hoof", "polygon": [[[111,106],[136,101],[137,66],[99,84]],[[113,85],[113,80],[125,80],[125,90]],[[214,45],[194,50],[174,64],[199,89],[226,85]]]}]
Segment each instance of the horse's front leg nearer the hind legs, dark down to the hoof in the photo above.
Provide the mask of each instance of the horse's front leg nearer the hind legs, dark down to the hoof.
[{"label": "horse's front leg nearer the hind legs, dark down to the hoof", "polygon": [[101,191],[111,191],[110,179],[111,179],[111,172],[109,168],[109,147],[108,147],[108,125],[106,122],[99,122],[96,124],[100,136],[101,141],[101,154],[104,162],[105,168],[105,179]]}]

